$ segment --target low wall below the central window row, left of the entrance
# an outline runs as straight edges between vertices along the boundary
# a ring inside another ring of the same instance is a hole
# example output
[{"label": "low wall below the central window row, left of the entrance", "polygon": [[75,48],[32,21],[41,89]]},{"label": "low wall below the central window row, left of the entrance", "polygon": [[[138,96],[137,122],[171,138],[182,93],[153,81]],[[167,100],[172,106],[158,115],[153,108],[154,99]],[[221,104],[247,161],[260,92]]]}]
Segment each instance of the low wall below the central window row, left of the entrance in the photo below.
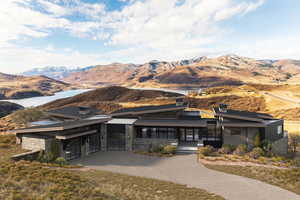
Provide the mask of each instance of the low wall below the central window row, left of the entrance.
[{"label": "low wall below the central window row, left of the entrance", "polygon": [[178,144],[177,139],[152,139],[152,138],[135,138],[133,142],[134,150],[147,151],[150,147],[158,145]]}]

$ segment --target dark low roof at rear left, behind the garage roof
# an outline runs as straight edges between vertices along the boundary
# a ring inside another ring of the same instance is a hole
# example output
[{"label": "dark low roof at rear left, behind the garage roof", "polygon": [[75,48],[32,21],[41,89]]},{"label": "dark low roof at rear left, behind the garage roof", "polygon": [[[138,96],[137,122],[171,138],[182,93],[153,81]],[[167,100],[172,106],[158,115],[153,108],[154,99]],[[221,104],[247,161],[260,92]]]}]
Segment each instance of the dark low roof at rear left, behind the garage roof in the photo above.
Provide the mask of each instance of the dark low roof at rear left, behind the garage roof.
[{"label": "dark low roof at rear left, behind the garage roof", "polygon": [[70,119],[84,119],[102,114],[98,109],[83,106],[68,106],[47,112],[50,116],[58,116]]}]

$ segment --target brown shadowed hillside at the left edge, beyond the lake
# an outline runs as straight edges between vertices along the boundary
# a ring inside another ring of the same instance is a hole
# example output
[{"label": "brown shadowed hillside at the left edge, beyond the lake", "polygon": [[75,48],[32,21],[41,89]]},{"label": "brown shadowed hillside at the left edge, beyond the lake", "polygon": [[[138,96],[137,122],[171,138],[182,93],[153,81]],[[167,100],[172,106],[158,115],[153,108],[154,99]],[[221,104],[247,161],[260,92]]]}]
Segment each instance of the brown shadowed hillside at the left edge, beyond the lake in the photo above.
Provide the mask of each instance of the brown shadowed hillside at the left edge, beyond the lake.
[{"label": "brown shadowed hillside at the left edge, beyond the lake", "polygon": [[70,84],[46,76],[0,74],[0,100],[53,95],[70,88]]}]

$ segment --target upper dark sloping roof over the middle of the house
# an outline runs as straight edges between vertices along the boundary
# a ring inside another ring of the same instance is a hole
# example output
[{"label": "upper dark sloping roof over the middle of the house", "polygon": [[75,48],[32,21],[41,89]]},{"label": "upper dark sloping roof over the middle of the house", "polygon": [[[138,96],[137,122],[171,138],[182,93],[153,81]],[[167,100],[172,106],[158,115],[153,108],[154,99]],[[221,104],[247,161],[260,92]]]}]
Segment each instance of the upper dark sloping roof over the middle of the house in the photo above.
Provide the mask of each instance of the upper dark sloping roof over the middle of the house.
[{"label": "upper dark sloping roof over the middle of the house", "polygon": [[121,115],[135,115],[135,114],[145,114],[145,113],[156,113],[156,112],[166,112],[173,110],[184,110],[187,107],[186,104],[176,105],[176,104],[168,104],[168,105],[159,105],[159,106],[142,106],[135,108],[124,108],[117,110],[111,113],[112,116],[121,116]]}]

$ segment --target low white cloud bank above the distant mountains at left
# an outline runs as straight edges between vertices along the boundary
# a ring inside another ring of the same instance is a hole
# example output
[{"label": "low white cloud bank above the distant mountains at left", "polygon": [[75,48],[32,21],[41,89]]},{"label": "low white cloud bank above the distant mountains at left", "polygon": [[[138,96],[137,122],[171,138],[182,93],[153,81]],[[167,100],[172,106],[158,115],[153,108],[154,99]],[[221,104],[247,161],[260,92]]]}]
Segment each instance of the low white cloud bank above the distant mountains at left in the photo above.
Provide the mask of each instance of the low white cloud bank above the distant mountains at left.
[{"label": "low white cloud bank above the distant mountains at left", "polygon": [[106,63],[100,55],[82,54],[70,48],[59,50],[52,45],[45,49],[21,48],[14,45],[0,48],[0,71],[4,73],[19,73],[33,67],[78,67],[99,63]]}]

